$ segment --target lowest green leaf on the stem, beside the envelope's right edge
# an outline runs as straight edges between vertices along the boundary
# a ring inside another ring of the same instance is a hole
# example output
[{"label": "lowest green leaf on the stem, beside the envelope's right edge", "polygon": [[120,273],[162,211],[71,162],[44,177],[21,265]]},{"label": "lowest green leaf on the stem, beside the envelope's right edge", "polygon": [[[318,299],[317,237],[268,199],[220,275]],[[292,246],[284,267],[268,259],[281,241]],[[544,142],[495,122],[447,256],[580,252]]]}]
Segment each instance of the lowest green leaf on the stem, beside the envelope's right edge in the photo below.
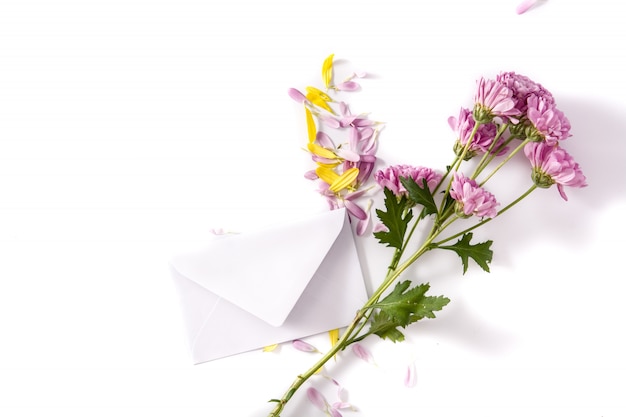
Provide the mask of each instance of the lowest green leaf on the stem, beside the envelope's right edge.
[{"label": "lowest green leaf on the stem, beside the envelope's right edge", "polygon": [[421,284],[413,288],[411,281],[396,284],[385,298],[372,305],[379,311],[373,315],[369,332],[383,339],[401,342],[404,335],[399,327],[405,328],[423,318],[435,318],[435,311],[441,310],[450,300],[443,296],[426,296],[430,285]]}]

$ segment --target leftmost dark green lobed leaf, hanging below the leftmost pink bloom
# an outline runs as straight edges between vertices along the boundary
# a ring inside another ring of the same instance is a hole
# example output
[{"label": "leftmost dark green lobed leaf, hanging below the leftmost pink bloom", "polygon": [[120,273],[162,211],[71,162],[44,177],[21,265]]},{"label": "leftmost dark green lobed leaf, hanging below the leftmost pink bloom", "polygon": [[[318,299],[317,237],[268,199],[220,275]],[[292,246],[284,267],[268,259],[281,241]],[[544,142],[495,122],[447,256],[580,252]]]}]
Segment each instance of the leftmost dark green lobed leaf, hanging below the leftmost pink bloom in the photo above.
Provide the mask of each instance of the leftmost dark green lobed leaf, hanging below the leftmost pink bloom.
[{"label": "leftmost dark green lobed leaf, hanging below the leftmost pink bloom", "polygon": [[406,234],[409,222],[413,218],[413,212],[406,210],[408,200],[406,197],[398,198],[393,191],[385,188],[385,208],[386,211],[376,210],[376,215],[387,227],[387,231],[375,232],[374,236],[380,243],[387,244],[396,249],[402,249],[404,235]]}]

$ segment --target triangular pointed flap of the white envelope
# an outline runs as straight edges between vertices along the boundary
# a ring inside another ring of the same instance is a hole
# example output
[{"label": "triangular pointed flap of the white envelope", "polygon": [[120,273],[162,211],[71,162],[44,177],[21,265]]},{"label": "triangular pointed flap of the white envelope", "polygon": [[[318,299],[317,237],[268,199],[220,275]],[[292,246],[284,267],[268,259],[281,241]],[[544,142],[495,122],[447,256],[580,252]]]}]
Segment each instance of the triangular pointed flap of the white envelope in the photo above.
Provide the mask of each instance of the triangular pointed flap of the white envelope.
[{"label": "triangular pointed flap of the white envelope", "polygon": [[345,209],[231,235],[172,266],[273,326],[283,324],[346,224]]}]

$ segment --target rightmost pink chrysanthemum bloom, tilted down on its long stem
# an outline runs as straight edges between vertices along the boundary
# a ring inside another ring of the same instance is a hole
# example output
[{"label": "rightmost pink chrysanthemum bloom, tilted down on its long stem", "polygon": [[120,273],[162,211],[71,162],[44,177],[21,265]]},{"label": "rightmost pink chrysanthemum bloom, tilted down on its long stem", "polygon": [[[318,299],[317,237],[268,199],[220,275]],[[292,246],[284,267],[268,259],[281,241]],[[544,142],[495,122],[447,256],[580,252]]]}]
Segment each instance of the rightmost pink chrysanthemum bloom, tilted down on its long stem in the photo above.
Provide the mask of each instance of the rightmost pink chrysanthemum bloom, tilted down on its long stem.
[{"label": "rightmost pink chrysanthemum bloom, tilted down on its long stem", "polygon": [[587,179],[578,163],[558,145],[530,142],[524,147],[524,153],[533,167],[531,177],[538,187],[550,188],[556,184],[559,194],[567,201],[564,186],[577,188],[587,186]]}]

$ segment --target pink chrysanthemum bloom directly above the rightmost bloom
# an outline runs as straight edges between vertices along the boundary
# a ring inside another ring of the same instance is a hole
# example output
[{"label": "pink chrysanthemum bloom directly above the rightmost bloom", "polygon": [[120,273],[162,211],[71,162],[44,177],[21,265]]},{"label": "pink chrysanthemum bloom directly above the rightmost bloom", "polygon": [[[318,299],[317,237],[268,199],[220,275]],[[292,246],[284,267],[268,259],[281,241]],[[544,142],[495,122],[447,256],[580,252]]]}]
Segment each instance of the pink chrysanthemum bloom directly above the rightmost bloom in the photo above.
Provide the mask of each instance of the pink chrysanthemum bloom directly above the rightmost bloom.
[{"label": "pink chrysanthemum bloom directly above the rightmost bloom", "polygon": [[554,146],[571,136],[569,120],[556,108],[554,102],[538,96],[528,97],[527,117],[534,128],[527,134],[532,141],[545,141]]}]

